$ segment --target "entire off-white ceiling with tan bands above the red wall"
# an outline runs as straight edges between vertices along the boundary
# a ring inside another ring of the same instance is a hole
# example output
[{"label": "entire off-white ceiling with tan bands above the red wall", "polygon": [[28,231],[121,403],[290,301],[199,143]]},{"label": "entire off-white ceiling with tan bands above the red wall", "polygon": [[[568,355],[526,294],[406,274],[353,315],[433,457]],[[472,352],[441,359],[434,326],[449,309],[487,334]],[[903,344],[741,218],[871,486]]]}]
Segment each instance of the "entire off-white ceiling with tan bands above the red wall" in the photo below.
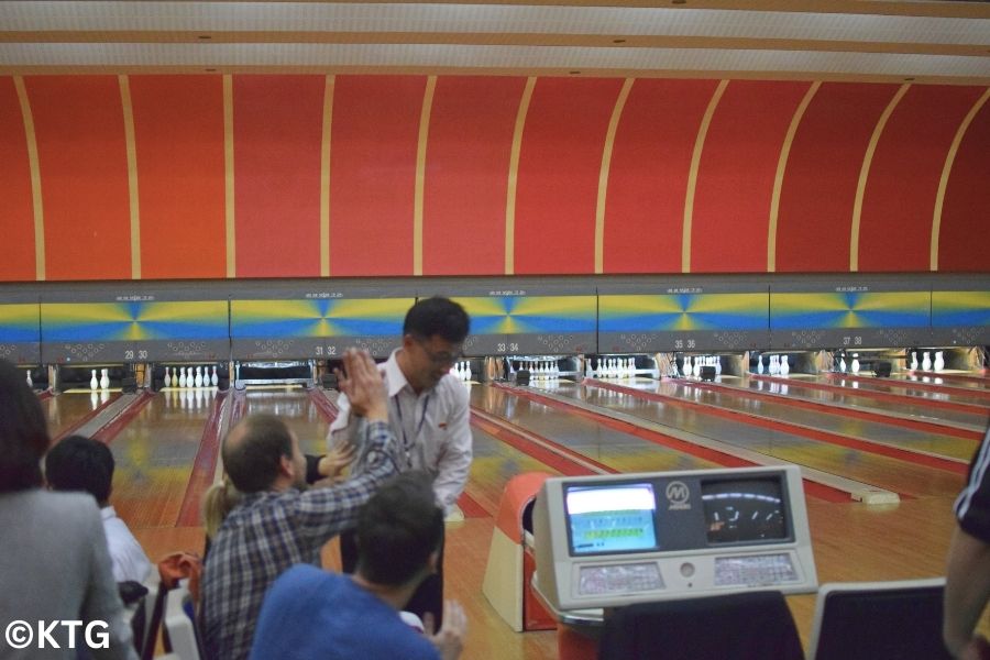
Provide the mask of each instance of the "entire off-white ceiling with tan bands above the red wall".
[{"label": "entire off-white ceiling with tan bands above the red wall", "polygon": [[470,73],[990,85],[990,4],[0,2],[0,73]]}]

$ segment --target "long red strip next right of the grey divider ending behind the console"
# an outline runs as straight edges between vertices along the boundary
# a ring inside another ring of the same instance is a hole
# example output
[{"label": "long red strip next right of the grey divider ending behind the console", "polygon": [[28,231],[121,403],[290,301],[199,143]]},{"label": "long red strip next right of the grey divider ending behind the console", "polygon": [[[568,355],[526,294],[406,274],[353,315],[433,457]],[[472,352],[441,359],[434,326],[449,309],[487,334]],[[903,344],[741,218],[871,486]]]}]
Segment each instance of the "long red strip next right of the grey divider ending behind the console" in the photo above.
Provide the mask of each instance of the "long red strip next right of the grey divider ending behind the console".
[{"label": "long red strip next right of the grey divider ending behind the console", "polygon": [[793,424],[790,421],[782,421],[780,419],[755,415],[752,413],[727,410],[717,406],[685,402],[684,399],[667,396],[656,392],[645,392],[635,387],[626,387],[624,385],[618,385],[615,383],[605,383],[595,378],[585,378],[582,384],[585,387],[612,389],[613,392],[619,392],[622,394],[627,394],[641,399],[659,402],[669,406],[696,410],[703,415],[711,415],[712,417],[721,417],[722,419],[740,421],[743,424],[769,429],[771,431],[781,431],[784,433],[791,433],[792,436],[798,436],[800,438],[806,438],[809,440],[818,440],[822,442],[828,442],[831,444],[838,444],[839,447],[847,447],[849,449],[875,453],[890,459],[908,461],[909,463],[915,463],[919,465],[924,465],[926,468],[945,470],[946,472],[952,472],[964,476],[969,472],[969,461],[965,459],[944,457],[920,449],[904,449],[903,447],[898,447],[881,440],[853,438],[849,436],[843,436],[840,433],[823,431],[800,424]]}]

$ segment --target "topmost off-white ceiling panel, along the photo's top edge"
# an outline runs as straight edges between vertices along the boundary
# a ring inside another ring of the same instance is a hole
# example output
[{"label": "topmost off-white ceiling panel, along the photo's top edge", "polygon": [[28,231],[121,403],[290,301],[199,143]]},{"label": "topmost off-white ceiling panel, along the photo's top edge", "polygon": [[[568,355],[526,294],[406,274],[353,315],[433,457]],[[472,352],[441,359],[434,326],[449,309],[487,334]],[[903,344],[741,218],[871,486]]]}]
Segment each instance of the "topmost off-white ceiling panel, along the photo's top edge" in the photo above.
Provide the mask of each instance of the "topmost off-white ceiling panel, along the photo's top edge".
[{"label": "topmost off-white ceiling panel, along the photo's top edge", "polygon": [[4,31],[622,34],[990,44],[990,19],[637,7],[337,2],[0,2]]}]

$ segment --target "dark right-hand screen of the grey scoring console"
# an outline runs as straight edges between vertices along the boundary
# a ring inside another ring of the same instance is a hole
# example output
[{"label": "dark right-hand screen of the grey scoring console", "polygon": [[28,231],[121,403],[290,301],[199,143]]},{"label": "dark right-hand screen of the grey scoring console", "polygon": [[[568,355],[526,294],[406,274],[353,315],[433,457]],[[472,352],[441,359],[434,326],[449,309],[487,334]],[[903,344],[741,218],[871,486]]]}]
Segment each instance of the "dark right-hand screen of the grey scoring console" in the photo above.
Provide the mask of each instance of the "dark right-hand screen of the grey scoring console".
[{"label": "dark right-hand screen of the grey scoring console", "polygon": [[789,538],[783,487],[777,476],[702,481],[708,544]]}]

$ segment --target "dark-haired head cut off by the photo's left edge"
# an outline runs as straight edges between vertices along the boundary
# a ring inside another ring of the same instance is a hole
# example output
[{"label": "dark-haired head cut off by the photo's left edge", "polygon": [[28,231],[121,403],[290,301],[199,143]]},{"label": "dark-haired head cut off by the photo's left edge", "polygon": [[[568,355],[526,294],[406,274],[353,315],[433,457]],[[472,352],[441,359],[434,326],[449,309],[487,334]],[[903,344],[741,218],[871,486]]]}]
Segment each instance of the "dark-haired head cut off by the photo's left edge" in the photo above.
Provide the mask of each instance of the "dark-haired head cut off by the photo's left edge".
[{"label": "dark-haired head cut off by the photo's left edge", "polygon": [[42,485],[41,459],[50,441],[37,395],[20,370],[0,360],[0,493]]}]

